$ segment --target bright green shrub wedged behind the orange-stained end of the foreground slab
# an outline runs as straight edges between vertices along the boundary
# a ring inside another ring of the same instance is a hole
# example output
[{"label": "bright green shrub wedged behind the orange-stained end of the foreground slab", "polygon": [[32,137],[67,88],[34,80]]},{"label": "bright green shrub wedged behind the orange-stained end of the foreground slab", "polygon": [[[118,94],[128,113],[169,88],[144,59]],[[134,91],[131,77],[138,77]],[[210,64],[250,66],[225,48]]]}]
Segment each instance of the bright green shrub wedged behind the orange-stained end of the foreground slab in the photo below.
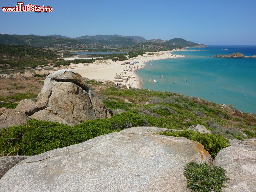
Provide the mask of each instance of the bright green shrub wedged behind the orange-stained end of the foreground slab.
[{"label": "bright green shrub wedged behind the orange-stained end of the foreground slab", "polygon": [[161,135],[174,136],[174,137],[185,137],[193,141],[197,141],[204,145],[206,151],[208,151],[211,157],[214,159],[217,153],[225,147],[229,146],[229,140],[221,135],[212,135],[206,133],[199,133],[197,131],[169,131],[160,132]]}]

